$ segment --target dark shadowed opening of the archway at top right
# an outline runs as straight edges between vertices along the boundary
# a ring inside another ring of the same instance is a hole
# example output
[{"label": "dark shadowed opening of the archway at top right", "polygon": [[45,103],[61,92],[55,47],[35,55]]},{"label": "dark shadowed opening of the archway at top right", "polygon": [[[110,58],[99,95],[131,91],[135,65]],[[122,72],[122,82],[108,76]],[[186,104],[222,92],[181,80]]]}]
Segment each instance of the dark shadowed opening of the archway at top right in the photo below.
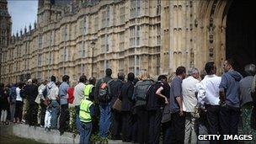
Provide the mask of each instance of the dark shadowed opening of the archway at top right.
[{"label": "dark shadowed opening of the archway at top right", "polygon": [[253,1],[233,1],[227,12],[226,57],[237,63],[238,72],[256,63],[256,22]]}]

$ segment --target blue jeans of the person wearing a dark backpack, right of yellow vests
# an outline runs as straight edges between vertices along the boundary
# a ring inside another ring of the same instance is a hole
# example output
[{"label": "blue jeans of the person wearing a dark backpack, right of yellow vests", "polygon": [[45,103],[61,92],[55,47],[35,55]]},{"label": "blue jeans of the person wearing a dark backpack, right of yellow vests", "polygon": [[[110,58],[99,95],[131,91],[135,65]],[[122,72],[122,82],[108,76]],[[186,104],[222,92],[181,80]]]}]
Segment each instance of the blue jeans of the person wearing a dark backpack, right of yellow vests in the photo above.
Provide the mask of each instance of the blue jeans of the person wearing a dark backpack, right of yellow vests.
[{"label": "blue jeans of the person wearing a dark backpack, right of yellow vests", "polygon": [[110,103],[99,105],[99,136],[106,138],[109,135],[109,127],[111,125],[111,108]]}]

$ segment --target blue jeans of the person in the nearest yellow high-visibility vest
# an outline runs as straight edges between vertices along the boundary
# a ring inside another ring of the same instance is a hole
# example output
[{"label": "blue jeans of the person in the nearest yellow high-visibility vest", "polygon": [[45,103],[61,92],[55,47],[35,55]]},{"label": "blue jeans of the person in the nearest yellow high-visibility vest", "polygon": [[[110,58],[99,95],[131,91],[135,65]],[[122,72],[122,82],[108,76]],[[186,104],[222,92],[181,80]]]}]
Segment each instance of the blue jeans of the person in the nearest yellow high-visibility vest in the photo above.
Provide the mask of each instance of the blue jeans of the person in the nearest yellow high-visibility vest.
[{"label": "blue jeans of the person in the nearest yellow high-visibility vest", "polygon": [[89,144],[93,124],[92,124],[92,122],[83,123],[80,121],[80,125],[81,125],[83,131],[80,133],[79,143],[80,144]]}]

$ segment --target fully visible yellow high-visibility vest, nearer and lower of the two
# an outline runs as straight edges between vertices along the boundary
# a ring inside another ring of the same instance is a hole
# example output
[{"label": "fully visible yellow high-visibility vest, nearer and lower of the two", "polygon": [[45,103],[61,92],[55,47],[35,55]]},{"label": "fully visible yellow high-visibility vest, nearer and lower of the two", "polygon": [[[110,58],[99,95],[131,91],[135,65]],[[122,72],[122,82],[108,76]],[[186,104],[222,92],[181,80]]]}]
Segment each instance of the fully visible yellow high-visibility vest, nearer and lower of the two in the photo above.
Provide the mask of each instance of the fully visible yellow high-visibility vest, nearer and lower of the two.
[{"label": "fully visible yellow high-visibility vest, nearer and lower of the two", "polygon": [[82,99],[79,110],[79,119],[82,122],[88,123],[92,121],[92,116],[90,113],[90,106],[93,104],[92,101],[88,99]]}]

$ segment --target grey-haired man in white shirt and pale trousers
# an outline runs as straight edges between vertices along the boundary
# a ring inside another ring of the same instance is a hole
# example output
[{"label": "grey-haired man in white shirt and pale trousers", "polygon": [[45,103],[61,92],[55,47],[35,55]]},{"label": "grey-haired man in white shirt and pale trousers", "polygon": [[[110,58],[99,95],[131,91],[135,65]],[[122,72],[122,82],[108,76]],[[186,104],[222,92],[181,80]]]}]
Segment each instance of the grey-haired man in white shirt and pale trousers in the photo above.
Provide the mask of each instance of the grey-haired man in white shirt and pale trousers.
[{"label": "grey-haired man in white shirt and pale trousers", "polygon": [[183,94],[183,111],[186,112],[185,122],[185,140],[184,143],[196,143],[197,136],[195,133],[195,116],[193,115],[197,99],[195,96],[196,83],[199,83],[199,71],[197,68],[192,68],[188,71],[189,77],[186,77],[182,82]]}]

